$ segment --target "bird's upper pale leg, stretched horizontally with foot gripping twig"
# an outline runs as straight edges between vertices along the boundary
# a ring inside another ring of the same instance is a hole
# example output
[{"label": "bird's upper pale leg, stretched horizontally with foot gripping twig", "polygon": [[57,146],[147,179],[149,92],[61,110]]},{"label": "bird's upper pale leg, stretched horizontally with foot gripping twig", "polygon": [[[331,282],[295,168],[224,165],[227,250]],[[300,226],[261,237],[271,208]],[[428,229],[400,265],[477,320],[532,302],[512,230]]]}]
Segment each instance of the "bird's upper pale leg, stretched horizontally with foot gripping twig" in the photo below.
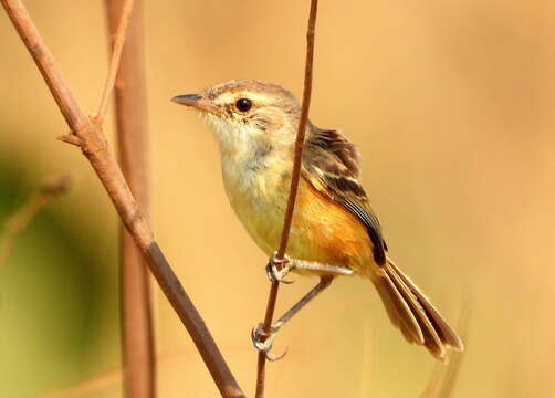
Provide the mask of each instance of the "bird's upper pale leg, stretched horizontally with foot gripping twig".
[{"label": "bird's upper pale leg, stretched horizontally with foot gripping twig", "polygon": [[[281,265],[281,269],[278,268],[279,265]],[[278,259],[278,253],[274,252],[266,264],[266,275],[268,279],[272,282],[291,284],[294,281],[285,280],[285,275],[287,275],[293,269],[320,271],[335,275],[352,275],[354,273],[354,271],[348,266],[329,265],[314,261],[295,260],[290,259],[287,255],[285,255],[283,259]]]}]

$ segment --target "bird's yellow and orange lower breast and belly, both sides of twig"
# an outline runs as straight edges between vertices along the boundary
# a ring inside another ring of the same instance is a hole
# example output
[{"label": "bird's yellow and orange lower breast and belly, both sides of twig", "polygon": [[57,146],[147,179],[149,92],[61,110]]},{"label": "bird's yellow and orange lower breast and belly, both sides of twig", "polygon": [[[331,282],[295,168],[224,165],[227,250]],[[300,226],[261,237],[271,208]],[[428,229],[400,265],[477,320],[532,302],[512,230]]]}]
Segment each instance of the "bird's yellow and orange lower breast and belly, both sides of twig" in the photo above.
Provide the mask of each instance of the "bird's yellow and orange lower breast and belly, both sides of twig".
[{"label": "bird's yellow and orange lower breast and belly, both sides of twig", "polygon": [[[233,210],[256,244],[270,255],[281,240],[291,163],[269,163],[253,170],[222,159],[222,168]],[[301,178],[287,254],[360,272],[371,261],[371,243],[356,217]]]}]

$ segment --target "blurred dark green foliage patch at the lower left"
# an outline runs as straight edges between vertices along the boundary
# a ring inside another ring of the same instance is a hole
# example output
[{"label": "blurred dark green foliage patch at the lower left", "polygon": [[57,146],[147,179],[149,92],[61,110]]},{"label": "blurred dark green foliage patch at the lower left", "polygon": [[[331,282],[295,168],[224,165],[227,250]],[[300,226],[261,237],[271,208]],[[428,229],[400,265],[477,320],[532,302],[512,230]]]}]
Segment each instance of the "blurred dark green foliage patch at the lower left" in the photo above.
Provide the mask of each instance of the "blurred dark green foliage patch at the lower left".
[{"label": "blurred dark green foliage patch at the lower left", "polygon": [[[0,165],[0,226],[41,185],[21,175],[17,164]],[[117,305],[105,272],[115,266],[115,252],[98,251],[87,239],[86,213],[69,223],[60,206],[57,198],[49,202],[0,264],[1,397],[33,397],[78,381],[94,360],[102,313],[113,311],[105,296]]]}]

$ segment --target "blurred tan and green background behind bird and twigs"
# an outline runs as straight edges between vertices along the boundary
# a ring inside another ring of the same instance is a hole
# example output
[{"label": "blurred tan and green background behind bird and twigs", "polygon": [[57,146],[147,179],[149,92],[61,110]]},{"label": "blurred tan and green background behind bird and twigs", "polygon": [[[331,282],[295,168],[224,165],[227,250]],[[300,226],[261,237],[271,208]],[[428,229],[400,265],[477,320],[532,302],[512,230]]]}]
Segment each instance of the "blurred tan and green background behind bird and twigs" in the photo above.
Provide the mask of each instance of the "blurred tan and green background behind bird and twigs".
[{"label": "blurred tan and green background behind bird and twigs", "polygon": [[[93,112],[108,62],[103,2],[25,4]],[[320,4],[311,118],[359,145],[396,262],[454,325],[468,310],[453,397],[555,396],[554,12],[495,0]],[[301,96],[307,13],[293,0],[145,2],[154,229],[248,395],[266,259],[231,212],[208,127],[169,98],[230,78]],[[45,177],[74,178],[0,264],[0,396],[96,383],[76,396],[119,397],[115,211],[80,151],[54,139],[67,128],[3,10],[0,49],[0,226]],[[278,312],[314,282],[283,287]],[[156,301],[159,397],[218,396],[158,290]],[[355,279],[274,347],[289,354],[269,365],[268,397],[419,397],[436,368]]]}]

